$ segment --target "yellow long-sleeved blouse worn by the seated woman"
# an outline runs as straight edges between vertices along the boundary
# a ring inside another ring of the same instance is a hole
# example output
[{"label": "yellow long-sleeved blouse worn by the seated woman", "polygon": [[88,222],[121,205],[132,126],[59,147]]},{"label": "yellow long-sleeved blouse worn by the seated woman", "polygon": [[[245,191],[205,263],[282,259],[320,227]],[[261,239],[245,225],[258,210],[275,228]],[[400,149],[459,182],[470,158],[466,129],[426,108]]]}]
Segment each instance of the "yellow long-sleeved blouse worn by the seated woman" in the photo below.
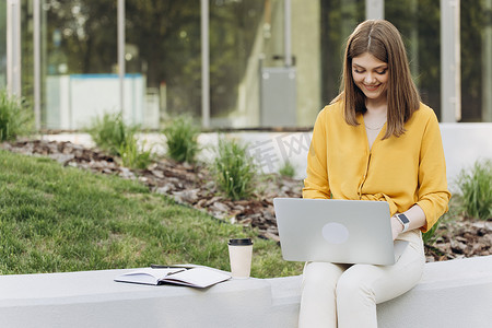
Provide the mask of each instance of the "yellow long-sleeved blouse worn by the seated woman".
[{"label": "yellow long-sleeved blouse worn by the seated woman", "polygon": [[382,140],[386,125],[371,150],[362,115],[359,126],[343,118],[340,102],[326,106],[316,119],[304,198],[384,200],[391,215],[419,204],[430,230],[447,211],[446,163],[437,118],[421,104],[405,125],[406,132]]}]

